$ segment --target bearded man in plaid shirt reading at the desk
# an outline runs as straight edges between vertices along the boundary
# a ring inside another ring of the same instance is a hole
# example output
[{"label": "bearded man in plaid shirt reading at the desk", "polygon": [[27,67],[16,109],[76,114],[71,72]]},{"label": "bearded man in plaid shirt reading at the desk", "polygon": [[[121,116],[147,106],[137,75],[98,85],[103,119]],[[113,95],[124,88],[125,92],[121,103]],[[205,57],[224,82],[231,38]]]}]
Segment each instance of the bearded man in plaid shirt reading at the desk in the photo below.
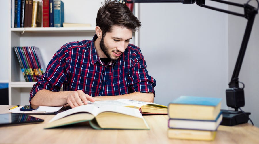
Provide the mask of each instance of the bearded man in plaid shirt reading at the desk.
[{"label": "bearded man in plaid shirt reading at the desk", "polygon": [[140,49],[129,44],[140,26],[125,4],[106,1],[98,10],[93,40],[67,43],[54,54],[33,85],[31,105],[73,108],[120,98],[153,102],[155,79]]}]

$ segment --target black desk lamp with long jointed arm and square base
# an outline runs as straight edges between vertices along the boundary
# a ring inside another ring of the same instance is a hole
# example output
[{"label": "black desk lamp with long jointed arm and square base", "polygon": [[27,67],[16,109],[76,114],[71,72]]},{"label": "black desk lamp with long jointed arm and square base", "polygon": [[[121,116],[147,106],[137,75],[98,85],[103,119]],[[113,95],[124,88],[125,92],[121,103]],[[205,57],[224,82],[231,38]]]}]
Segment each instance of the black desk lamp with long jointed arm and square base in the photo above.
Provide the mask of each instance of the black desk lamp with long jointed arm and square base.
[{"label": "black desk lamp with long jointed arm and square base", "polygon": [[[243,7],[244,8],[244,14],[239,14],[236,12],[231,12],[228,10],[223,10],[211,6],[205,5],[205,0],[131,0],[131,1],[124,1],[124,3],[157,3],[157,2],[174,2],[174,3],[183,3],[183,4],[193,4],[196,2],[197,5],[201,7],[205,7],[208,9],[236,15],[236,16],[241,16],[244,17],[248,20],[246,29],[245,29],[245,34],[243,37],[243,41],[241,43],[241,48],[239,50],[239,54],[237,57],[237,62],[235,65],[235,69],[233,71],[233,75],[231,77],[231,81],[229,82],[229,88],[226,89],[226,103],[228,107],[232,107],[235,109],[235,111],[231,110],[221,110],[223,113],[223,120],[221,122],[221,125],[226,125],[226,126],[234,126],[237,124],[242,124],[242,123],[247,123],[248,120],[250,120],[249,115],[251,113],[249,112],[244,112],[240,107],[245,106],[245,95],[244,95],[244,87],[245,85],[242,82],[239,82],[238,80],[238,75],[241,69],[241,65],[243,62],[243,58],[245,55],[245,50],[248,44],[248,40],[252,31],[252,27],[254,24],[254,19],[255,15],[258,13],[258,7],[259,7],[259,2],[258,0],[255,0],[257,2],[257,9],[255,7],[252,7],[248,3],[251,1],[247,1],[245,4],[239,4],[239,3],[233,3],[233,2],[228,2],[228,1],[223,1],[223,0],[211,0],[219,3],[224,3],[228,5],[233,5],[237,7]],[[239,87],[239,83],[243,84],[243,87]],[[240,109],[240,111],[238,111]],[[250,120],[251,121],[251,120]],[[252,122],[252,121],[251,121]],[[253,124],[253,122],[252,122]]]}]

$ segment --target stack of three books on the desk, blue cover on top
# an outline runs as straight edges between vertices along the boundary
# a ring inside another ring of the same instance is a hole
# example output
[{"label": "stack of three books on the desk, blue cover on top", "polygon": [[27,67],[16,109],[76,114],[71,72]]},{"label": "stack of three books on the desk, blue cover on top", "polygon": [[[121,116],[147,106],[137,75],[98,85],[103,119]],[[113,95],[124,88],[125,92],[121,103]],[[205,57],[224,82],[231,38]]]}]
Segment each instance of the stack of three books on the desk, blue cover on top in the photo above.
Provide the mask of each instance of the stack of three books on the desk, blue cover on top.
[{"label": "stack of three books on the desk, blue cover on top", "polygon": [[168,105],[167,137],[212,141],[222,121],[221,98],[180,96]]}]

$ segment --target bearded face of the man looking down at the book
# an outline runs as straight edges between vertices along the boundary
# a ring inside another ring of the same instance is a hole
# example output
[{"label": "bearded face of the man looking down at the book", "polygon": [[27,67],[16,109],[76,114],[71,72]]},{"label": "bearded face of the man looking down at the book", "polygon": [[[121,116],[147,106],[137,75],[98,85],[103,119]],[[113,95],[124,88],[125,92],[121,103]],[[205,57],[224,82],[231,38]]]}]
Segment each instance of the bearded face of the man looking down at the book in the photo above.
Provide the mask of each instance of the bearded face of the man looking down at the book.
[{"label": "bearded face of the man looking down at the book", "polygon": [[104,54],[111,60],[117,60],[129,45],[132,39],[132,30],[113,26],[111,32],[107,32],[100,41],[100,47]]}]

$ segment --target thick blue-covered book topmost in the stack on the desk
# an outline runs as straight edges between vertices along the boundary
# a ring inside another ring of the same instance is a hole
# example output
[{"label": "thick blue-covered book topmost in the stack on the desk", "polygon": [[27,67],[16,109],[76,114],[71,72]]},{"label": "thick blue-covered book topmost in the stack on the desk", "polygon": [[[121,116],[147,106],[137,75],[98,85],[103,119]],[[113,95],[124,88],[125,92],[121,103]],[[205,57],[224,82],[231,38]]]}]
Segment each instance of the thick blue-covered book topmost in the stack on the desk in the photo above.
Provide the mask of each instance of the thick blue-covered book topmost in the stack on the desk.
[{"label": "thick blue-covered book topmost in the stack on the desk", "polygon": [[168,104],[169,118],[215,120],[220,113],[221,98],[180,96]]}]

